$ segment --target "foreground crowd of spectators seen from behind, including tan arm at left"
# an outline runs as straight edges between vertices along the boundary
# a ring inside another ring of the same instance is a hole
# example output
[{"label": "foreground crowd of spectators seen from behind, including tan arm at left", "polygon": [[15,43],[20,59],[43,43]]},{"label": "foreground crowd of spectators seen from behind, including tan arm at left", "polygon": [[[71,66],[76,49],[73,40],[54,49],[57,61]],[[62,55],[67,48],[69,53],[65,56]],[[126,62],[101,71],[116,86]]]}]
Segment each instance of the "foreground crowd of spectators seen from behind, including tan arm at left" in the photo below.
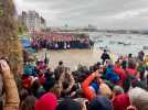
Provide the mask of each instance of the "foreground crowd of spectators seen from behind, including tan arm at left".
[{"label": "foreground crowd of spectators seen from behind, including tan arm at left", "polygon": [[104,51],[101,58],[71,72],[62,61],[53,69],[47,58],[28,57],[19,94],[9,65],[0,61],[4,110],[148,110],[148,56],[141,51],[113,63]]}]

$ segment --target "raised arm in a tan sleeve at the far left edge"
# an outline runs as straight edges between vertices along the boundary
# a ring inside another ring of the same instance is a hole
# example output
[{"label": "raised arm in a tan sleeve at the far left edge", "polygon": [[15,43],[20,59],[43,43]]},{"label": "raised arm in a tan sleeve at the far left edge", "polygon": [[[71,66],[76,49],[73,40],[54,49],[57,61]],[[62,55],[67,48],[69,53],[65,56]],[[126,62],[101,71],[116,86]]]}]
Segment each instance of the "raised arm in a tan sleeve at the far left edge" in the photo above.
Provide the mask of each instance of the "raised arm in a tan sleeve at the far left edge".
[{"label": "raised arm in a tan sleeve at the far left edge", "polygon": [[13,75],[10,73],[10,67],[4,59],[0,61],[0,69],[6,90],[6,103],[3,110],[19,110],[19,94]]}]

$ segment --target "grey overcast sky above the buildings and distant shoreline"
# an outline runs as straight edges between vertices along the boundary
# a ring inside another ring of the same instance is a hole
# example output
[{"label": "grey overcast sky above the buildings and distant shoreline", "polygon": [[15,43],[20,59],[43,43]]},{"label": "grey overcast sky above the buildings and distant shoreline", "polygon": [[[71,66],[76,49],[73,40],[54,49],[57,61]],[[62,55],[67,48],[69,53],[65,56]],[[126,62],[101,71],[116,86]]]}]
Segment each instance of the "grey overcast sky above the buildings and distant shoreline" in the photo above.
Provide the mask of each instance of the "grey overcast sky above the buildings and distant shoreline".
[{"label": "grey overcast sky above the buildings and distant shoreline", "polygon": [[50,26],[148,29],[148,0],[14,0],[18,12],[35,10]]}]

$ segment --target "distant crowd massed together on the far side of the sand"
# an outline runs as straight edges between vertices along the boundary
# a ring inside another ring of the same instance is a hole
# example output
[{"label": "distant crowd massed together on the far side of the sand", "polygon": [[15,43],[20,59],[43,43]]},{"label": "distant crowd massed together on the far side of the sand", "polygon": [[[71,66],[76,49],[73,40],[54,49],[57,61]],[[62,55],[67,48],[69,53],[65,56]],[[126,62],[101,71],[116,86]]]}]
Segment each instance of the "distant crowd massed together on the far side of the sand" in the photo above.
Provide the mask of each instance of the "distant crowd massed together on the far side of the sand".
[{"label": "distant crowd massed together on the far side of the sand", "polygon": [[35,50],[70,50],[70,48],[88,48],[88,37],[80,38],[80,36],[71,34],[35,34],[32,38],[32,47]]}]

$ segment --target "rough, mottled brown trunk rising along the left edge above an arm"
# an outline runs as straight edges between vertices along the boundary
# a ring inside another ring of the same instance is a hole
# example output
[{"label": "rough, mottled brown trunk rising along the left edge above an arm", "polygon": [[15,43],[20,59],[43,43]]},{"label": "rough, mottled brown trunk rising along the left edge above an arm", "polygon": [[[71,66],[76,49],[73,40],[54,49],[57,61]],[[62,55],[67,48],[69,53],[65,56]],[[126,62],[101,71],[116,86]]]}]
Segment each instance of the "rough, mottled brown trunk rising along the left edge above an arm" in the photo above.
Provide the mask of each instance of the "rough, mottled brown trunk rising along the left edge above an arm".
[{"label": "rough, mottled brown trunk rising along the left edge above an arm", "polygon": [[22,70],[23,58],[13,0],[0,0],[0,57],[9,58],[11,72],[18,76],[18,70]]}]

